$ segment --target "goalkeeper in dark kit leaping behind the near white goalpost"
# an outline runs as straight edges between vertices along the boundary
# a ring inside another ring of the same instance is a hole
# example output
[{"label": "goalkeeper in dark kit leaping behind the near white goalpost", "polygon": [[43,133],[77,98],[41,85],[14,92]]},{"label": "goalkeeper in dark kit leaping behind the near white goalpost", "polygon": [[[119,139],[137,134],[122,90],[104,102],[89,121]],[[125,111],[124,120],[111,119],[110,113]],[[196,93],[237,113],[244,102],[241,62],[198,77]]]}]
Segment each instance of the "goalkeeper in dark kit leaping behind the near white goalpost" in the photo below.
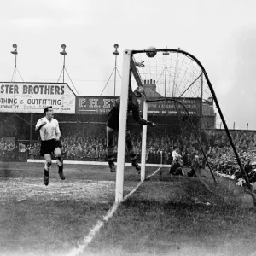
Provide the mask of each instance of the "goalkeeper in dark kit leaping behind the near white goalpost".
[{"label": "goalkeeper in dark kit leaping behind the near white goalpost", "polygon": [[[139,104],[137,102],[138,97],[142,97],[144,93],[143,87],[139,86],[136,90],[131,90],[131,84],[129,86],[129,96],[128,96],[128,109],[127,114],[132,112],[132,118],[139,125],[150,125],[154,126],[155,124],[144,120],[140,117],[139,113]],[[115,172],[115,166],[113,163],[113,132],[118,131],[119,128],[119,107],[120,107],[120,98],[116,101],[115,106],[108,113],[108,121],[107,121],[107,157],[108,157],[108,165],[110,168],[110,172]],[[125,137],[126,148],[128,149],[131,165],[136,168],[137,171],[141,170],[141,167],[137,163],[137,156],[134,151],[133,143],[131,142],[131,133],[129,129],[126,128],[126,137]]]}]

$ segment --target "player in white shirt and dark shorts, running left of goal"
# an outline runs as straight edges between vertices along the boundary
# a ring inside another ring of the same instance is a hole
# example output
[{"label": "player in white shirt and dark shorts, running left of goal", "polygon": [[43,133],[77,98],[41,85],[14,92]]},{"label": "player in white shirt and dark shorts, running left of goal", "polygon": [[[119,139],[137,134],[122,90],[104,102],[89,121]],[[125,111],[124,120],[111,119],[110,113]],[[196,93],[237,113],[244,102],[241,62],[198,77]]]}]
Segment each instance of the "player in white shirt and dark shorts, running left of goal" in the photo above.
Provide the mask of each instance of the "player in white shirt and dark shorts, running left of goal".
[{"label": "player in white shirt and dark shorts, running left of goal", "polygon": [[54,112],[52,107],[44,108],[45,117],[38,120],[36,131],[40,131],[41,149],[40,155],[44,156],[46,163],[44,165],[44,184],[49,184],[49,170],[51,166],[51,154],[55,154],[57,158],[57,165],[59,168],[59,175],[62,180],[65,179],[63,174],[63,160],[61,157],[61,131],[59,122],[54,119]]}]

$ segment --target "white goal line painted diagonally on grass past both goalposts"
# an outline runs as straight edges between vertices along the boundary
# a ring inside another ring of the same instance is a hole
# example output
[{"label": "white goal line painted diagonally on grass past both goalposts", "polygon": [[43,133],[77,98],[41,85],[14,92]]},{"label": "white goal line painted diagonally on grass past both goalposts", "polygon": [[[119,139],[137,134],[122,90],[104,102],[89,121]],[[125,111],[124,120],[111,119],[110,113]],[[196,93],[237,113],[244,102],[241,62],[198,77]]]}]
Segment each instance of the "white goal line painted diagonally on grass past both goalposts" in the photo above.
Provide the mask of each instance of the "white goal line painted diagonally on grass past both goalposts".
[{"label": "white goal line painted diagonally on grass past both goalposts", "polygon": [[[153,172],[152,174],[148,175],[148,177],[152,177],[154,176],[154,174],[156,172],[158,172],[160,170],[160,168],[158,168],[155,172]],[[147,177],[147,178],[148,178]],[[139,186],[143,183],[143,181],[141,181],[140,183],[137,184],[137,186],[131,190],[131,192],[125,196],[125,198],[123,199],[123,201],[121,201],[120,203],[124,202],[127,198],[129,198],[138,188]],[[120,204],[119,203],[119,204]],[[90,244],[90,242],[93,240],[93,238],[96,236],[96,234],[101,230],[101,228],[103,227],[103,225],[105,223],[107,223],[109,218],[113,217],[113,213],[117,211],[118,207],[119,207],[118,203],[114,203],[113,206],[109,209],[108,213],[102,218],[102,220],[98,220],[97,224],[90,230],[88,236],[84,237],[84,241],[82,244],[79,245],[78,248],[74,248],[73,251],[71,251],[70,253],[67,254],[67,256],[77,256],[79,255],[79,253],[82,253],[84,251],[84,249]]]}]

